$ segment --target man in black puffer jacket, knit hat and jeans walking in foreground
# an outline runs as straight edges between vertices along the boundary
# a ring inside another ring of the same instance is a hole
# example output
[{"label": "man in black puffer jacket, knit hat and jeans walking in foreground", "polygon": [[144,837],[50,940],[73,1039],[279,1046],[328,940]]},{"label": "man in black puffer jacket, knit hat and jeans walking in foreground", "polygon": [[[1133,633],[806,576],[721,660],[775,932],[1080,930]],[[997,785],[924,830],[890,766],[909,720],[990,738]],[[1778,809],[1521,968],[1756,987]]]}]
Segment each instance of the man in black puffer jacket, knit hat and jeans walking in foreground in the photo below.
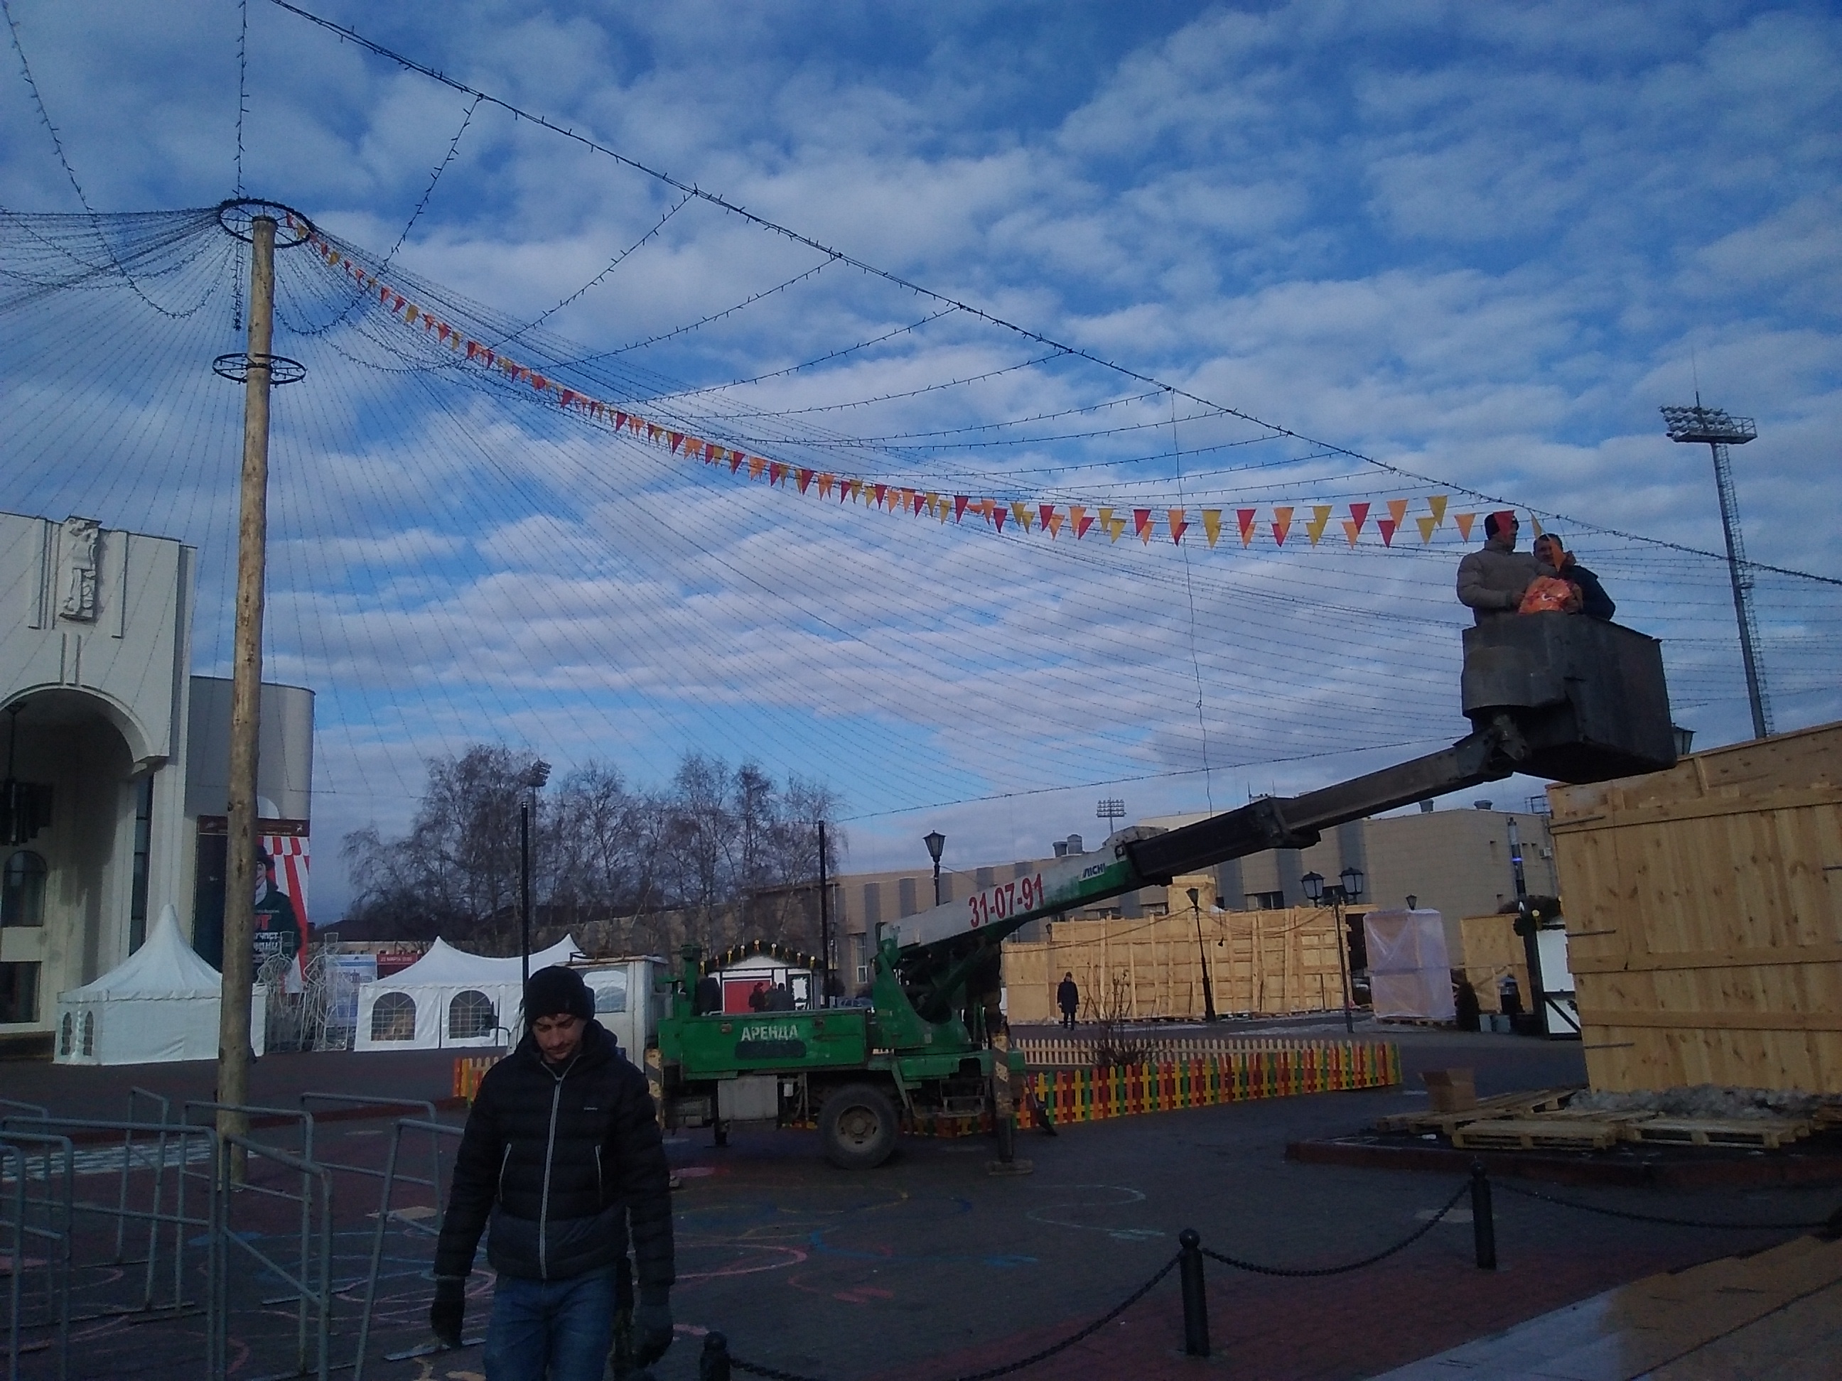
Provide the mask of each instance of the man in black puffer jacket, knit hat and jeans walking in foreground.
[{"label": "man in black puffer jacket, knit hat and jeans walking in foreground", "polygon": [[481,1081],[435,1248],[435,1337],[459,1346],[479,1236],[499,1274],[486,1381],[600,1381],[628,1219],[639,1265],[634,1363],[672,1340],[665,1147],[635,1070],[573,969],[525,985],[525,1039]]}]

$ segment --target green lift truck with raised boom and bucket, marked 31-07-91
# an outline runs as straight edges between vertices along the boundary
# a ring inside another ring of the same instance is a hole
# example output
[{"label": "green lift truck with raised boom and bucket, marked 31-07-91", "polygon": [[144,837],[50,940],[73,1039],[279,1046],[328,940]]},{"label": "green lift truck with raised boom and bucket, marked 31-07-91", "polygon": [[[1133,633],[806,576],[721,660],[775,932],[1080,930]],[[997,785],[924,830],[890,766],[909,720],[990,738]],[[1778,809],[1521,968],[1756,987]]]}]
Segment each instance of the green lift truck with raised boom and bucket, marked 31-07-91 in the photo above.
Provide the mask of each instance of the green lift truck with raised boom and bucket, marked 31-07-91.
[{"label": "green lift truck with raised boom and bucket, marked 31-07-91", "polygon": [[1661,648],[1619,624],[1538,613],[1468,628],[1463,702],[1472,733],[1439,753],[1175,830],[1122,830],[1109,854],[1057,858],[882,926],[869,1007],[698,1013],[702,954],[687,946],[647,1051],[665,1123],[715,1127],[720,1142],[728,1121],[816,1118],[827,1158],[847,1169],[882,1164],[903,1114],[997,1107],[1006,1136],[1002,1090],[1022,1062],[1002,1040],[998,945],[1030,921],[1306,849],[1334,825],[1514,772],[1588,783],[1676,762]]}]

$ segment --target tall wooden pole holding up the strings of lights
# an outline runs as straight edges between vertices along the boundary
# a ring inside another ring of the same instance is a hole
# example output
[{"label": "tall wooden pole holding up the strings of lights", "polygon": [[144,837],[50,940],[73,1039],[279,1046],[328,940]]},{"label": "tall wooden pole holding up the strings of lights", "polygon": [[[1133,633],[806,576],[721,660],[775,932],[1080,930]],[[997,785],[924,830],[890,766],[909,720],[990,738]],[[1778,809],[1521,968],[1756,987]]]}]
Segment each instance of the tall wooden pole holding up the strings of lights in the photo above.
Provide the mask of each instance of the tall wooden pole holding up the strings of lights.
[{"label": "tall wooden pole holding up the strings of lights", "polygon": [[[225,843],[223,1002],[217,1101],[249,1103],[252,934],[256,928],[256,744],[262,727],[262,602],[269,549],[269,387],[274,341],[274,217],[251,219],[249,346],[243,381],[243,490],[238,514],[236,643],[230,665],[230,819]],[[219,1136],[247,1136],[249,1114],[219,1110]],[[241,1178],[243,1156],[232,1156]]]}]

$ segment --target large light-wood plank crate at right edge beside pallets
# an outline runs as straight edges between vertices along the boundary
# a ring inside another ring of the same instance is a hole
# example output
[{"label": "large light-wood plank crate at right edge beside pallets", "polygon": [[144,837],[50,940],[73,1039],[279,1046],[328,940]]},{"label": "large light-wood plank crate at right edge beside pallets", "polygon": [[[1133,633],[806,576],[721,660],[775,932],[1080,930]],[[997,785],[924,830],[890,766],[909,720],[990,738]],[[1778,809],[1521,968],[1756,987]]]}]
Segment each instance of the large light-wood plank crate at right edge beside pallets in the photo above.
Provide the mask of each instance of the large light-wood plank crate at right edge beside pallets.
[{"label": "large light-wood plank crate at right edge beside pallets", "polygon": [[1842,724],[1547,795],[1591,1086],[1842,1092]]}]

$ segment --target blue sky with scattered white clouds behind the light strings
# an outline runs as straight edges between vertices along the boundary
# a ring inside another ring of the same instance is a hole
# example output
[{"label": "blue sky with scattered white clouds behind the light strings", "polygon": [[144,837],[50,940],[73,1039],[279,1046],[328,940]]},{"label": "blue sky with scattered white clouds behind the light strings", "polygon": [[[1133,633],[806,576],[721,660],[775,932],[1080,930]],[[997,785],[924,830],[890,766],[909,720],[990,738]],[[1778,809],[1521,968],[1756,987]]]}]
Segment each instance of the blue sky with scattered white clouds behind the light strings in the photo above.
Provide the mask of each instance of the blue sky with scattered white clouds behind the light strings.
[{"label": "blue sky with scattered white clouds behind the light strings", "polygon": [[[1658,405],[1698,381],[1755,416],[1735,451],[1752,556],[1842,574],[1829,6],[309,7],[901,278],[1435,482],[1192,401],[1173,436],[1170,396],[1030,363],[1046,352],[965,313],[904,330],[939,306],[847,265],[584,366],[584,389],[707,389],[659,407],[930,490],[1509,495],[1571,516],[1621,619],[1665,637],[1700,742],[1746,733],[1724,573],[1604,532],[1720,545],[1706,453],[1673,447]],[[236,4],[11,13],[92,206],[232,191]],[[247,15],[245,186],[374,265],[426,197],[391,267],[457,320],[523,324],[593,284],[532,337],[567,359],[823,263],[696,201],[667,215],[670,188],[494,105],[468,116],[470,98],[265,0]],[[79,210],[13,74],[0,151],[7,210]],[[236,446],[234,400],[181,368],[236,346],[236,258],[212,256],[199,273],[221,285],[190,326],[136,324],[125,295],[94,306],[144,331],[149,377],[171,370],[158,403],[52,348],[9,355],[0,416],[7,506],[199,543],[201,668],[228,646]],[[1450,530],[1179,551],[827,508],[503,390],[379,370],[409,346],[363,313],[298,333],[337,311],[332,278],[284,271],[278,348],[309,379],[276,405],[269,656],[321,692],[317,919],[343,902],[337,836],[400,827],[420,759],[473,738],[643,779],[685,748],[753,753],[842,794],[853,867],[923,860],[928,829],[971,867],[1102,834],[1096,795],[1219,808],[1464,729]],[[973,376],[989,377],[949,387]],[[17,405],[31,381],[114,407],[53,431]],[[1842,716],[1835,593],[1761,576],[1779,727]]]}]

